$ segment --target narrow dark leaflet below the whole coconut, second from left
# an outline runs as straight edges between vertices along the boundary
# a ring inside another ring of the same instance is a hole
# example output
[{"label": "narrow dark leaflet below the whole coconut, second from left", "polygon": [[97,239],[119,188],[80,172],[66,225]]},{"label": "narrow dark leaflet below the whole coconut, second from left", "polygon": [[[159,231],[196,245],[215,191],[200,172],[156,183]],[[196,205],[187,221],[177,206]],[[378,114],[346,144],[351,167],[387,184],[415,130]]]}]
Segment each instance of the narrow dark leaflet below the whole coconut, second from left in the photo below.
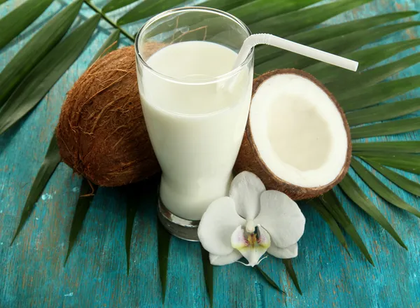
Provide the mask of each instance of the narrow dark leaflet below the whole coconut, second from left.
[{"label": "narrow dark leaflet below the whole coconut, second from left", "polygon": [[70,253],[73,250],[73,246],[76,243],[76,239],[82,230],[83,221],[85,221],[87,211],[92,204],[94,192],[97,190],[97,186],[91,185],[87,179],[83,179],[80,186],[80,195],[76,204],[76,210],[73,214],[73,220],[71,221],[71,229],[69,236],[69,248],[67,248],[66,259],[64,265],[69,259]]}]

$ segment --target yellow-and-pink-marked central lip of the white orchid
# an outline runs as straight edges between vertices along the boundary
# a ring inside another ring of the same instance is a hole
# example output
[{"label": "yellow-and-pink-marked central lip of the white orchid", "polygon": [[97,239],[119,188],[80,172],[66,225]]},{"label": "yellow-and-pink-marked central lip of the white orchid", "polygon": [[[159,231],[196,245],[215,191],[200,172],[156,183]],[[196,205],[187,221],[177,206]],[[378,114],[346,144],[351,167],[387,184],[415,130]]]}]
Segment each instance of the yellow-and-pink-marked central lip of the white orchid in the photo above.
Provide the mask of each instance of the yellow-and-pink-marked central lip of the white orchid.
[{"label": "yellow-and-pink-marked central lip of the white orchid", "polygon": [[232,233],[231,242],[232,247],[236,248],[248,260],[248,266],[252,267],[258,265],[270,245],[269,234],[260,225],[251,233],[239,226]]}]

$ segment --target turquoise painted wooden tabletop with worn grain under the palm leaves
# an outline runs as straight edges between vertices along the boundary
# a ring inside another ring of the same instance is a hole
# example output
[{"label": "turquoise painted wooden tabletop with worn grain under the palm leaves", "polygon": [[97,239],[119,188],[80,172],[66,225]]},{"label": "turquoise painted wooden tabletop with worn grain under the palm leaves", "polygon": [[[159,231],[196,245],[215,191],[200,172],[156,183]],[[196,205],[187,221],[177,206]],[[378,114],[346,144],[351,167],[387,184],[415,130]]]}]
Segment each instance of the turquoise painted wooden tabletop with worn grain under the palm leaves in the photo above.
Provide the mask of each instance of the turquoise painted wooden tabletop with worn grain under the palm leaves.
[{"label": "turquoise painted wooden tabletop with worn grain under the palm leaves", "polygon": [[[0,6],[6,15],[22,0]],[[0,51],[0,69],[28,38],[69,0],[54,1],[34,25]],[[95,1],[99,5],[104,2]],[[375,0],[328,20],[328,24],[372,15],[420,10],[417,0]],[[83,6],[76,23],[92,15]],[[118,13],[111,13],[114,18]],[[420,20],[415,16],[412,20]],[[141,23],[127,27],[131,32]],[[43,161],[60,106],[66,92],[87,68],[95,50],[109,34],[101,21],[87,49],[52,87],[36,109],[0,137],[0,307],[162,307],[157,265],[155,204],[139,194],[141,208],[134,222],[130,276],[125,262],[125,195],[120,188],[99,188],[87,213],[80,239],[64,267],[71,217],[80,179],[66,165],[59,165],[36,209],[13,246],[10,240],[18,225],[34,176]],[[0,29],[0,33],[3,29]],[[1,35],[1,34],[0,34]],[[373,45],[420,37],[420,28],[400,31]],[[129,42],[123,40],[121,45]],[[405,57],[412,48],[391,60]],[[420,64],[391,79],[420,73]],[[420,90],[399,99],[419,97]],[[419,116],[419,115],[417,115]],[[381,137],[386,140],[420,140],[420,132]],[[419,181],[419,176],[406,174]],[[381,178],[382,179],[382,178]],[[360,183],[360,181],[359,181]],[[388,181],[386,181],[388,183]],[[420,200],[391,188],[420,209]],[[366,192],[370,192],[362,185]],[[149,196],[150,197],[150,196]],[[261,267],[286,291],[276,293],[251,268],[240,264],[214,268],[214,307],[420,307],[420,224],[418,218],[369,193],[380,211],[402,235],[405,251],[370,218],[342,195],[344,207],[365,239],[376,267],[367,263],[349,240],[352,258],[339,246],[328,226],[309,209],[307,228],[294,260],[303,295],[299,295],[280,260],[267,258]],[[205,292],[200,247],[172,239],[165,307],[209,307]]]}]

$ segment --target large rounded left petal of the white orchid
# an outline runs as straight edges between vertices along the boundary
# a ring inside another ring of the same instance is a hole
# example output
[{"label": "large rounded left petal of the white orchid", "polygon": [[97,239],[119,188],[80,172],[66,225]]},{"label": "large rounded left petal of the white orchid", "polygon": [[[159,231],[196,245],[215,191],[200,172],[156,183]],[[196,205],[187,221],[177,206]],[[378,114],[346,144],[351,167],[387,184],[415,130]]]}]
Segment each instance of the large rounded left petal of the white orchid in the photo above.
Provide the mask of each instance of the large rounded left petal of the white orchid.
[{"label": "large rounded left petal of the white orchid", "polygon": [[238,225],[245,223],[235,209],[230,197],[211,202],[198,226],[198,238],[204,249],[214,255],[228,255],[233,251],[230,236]]}]

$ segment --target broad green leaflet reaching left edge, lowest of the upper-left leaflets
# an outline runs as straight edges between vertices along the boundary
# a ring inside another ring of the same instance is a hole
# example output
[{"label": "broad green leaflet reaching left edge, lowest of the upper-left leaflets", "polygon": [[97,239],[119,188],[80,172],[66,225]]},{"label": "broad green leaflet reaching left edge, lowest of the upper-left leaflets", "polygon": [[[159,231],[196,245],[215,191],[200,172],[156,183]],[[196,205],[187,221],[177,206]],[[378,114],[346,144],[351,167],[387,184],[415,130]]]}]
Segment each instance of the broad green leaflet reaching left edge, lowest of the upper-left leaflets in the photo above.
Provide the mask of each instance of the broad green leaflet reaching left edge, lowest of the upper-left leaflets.
[{"label": "broad green leaflet reaching left edge, lowest of the upper-left leaflets", "polygon": [[0,108],[0,134],[25,116],[78,58],[96,29],[100,15],[94,15],[66,36],[22,80]]}]

